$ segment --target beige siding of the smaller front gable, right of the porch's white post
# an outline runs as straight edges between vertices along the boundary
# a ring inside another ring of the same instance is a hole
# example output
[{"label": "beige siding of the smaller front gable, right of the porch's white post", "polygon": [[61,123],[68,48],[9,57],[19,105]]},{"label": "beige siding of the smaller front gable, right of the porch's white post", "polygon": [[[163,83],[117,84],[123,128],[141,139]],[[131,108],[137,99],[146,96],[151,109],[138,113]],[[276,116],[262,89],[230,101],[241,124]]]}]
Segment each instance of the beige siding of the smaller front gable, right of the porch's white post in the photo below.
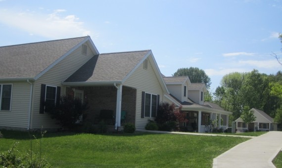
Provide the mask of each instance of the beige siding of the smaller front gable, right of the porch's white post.
[{"label": "beige siding of the smaller front gable, right of the porch's white post", "polygon": [[141,66],[138,67],[137,70],[126,80],[124,85],[137,88],[135,125],[136,125],[136,129],[144,129],[146,124],[148,123],[148,119],[152,119],[152,118],[141,118],[142,91],[152,94],[159,94],[160,102],[163,101],[163,90],[156,78],[151,62],[148,61],[147,70],[143,69],[143,64],[141,64]]}]

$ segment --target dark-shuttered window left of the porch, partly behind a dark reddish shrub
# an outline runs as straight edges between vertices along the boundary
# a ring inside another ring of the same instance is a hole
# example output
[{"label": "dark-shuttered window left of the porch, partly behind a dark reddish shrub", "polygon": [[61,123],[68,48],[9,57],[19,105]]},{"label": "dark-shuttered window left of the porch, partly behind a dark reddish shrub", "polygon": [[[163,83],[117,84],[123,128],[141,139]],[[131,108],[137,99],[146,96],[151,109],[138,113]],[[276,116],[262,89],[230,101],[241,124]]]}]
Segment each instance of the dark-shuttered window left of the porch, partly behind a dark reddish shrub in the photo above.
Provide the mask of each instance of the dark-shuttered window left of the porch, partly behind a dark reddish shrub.
[{"label": "dark-shuttered window left of the porch, partly behind a dark reddish shrub", "polygon": [[41,84],[40,111],[39,113],[53,110],[60,102],[61,87]]}]

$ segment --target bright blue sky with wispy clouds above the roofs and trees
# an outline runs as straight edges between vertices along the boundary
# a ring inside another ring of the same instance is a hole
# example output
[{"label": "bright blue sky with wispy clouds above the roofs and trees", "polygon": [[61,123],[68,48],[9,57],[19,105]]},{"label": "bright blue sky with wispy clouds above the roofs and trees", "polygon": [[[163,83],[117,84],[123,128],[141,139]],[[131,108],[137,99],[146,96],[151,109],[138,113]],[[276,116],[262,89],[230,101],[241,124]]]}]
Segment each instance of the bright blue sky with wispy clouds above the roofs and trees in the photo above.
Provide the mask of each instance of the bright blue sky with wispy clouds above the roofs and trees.
[{"label": "bright blue sky with wispy clouds above the roofs and trees", "polygon": [[282,69],[282,0],[0,0],[0,46],[91,36],[100,53],[151,49],[160,71]]}]

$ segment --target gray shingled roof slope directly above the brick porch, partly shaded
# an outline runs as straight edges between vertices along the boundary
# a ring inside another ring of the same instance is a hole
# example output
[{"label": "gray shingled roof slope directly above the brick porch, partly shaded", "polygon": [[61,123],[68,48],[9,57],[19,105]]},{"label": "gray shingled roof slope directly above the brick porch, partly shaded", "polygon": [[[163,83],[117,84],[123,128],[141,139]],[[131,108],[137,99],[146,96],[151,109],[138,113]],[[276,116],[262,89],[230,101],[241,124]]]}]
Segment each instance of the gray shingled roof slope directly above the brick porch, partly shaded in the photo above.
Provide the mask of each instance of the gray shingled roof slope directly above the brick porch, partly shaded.
[{"label": "gray shingled roof slope directly above the brick porch, partly shaded", "polygon": [[122,81],[150,50],[95,55],[65,82]]}]

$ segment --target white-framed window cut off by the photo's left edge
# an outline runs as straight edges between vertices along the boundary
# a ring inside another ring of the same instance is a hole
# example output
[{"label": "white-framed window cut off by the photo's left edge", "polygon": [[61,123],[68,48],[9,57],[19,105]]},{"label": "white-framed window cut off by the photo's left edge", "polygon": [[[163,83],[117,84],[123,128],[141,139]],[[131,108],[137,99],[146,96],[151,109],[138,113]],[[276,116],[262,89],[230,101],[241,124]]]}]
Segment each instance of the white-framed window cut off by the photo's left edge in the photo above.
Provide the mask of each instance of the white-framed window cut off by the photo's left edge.
[{"label": "white-framed window cut off by the photo's left edge", "polygon": [[12,84],[0,84],[0,110],[11,110]]}]

